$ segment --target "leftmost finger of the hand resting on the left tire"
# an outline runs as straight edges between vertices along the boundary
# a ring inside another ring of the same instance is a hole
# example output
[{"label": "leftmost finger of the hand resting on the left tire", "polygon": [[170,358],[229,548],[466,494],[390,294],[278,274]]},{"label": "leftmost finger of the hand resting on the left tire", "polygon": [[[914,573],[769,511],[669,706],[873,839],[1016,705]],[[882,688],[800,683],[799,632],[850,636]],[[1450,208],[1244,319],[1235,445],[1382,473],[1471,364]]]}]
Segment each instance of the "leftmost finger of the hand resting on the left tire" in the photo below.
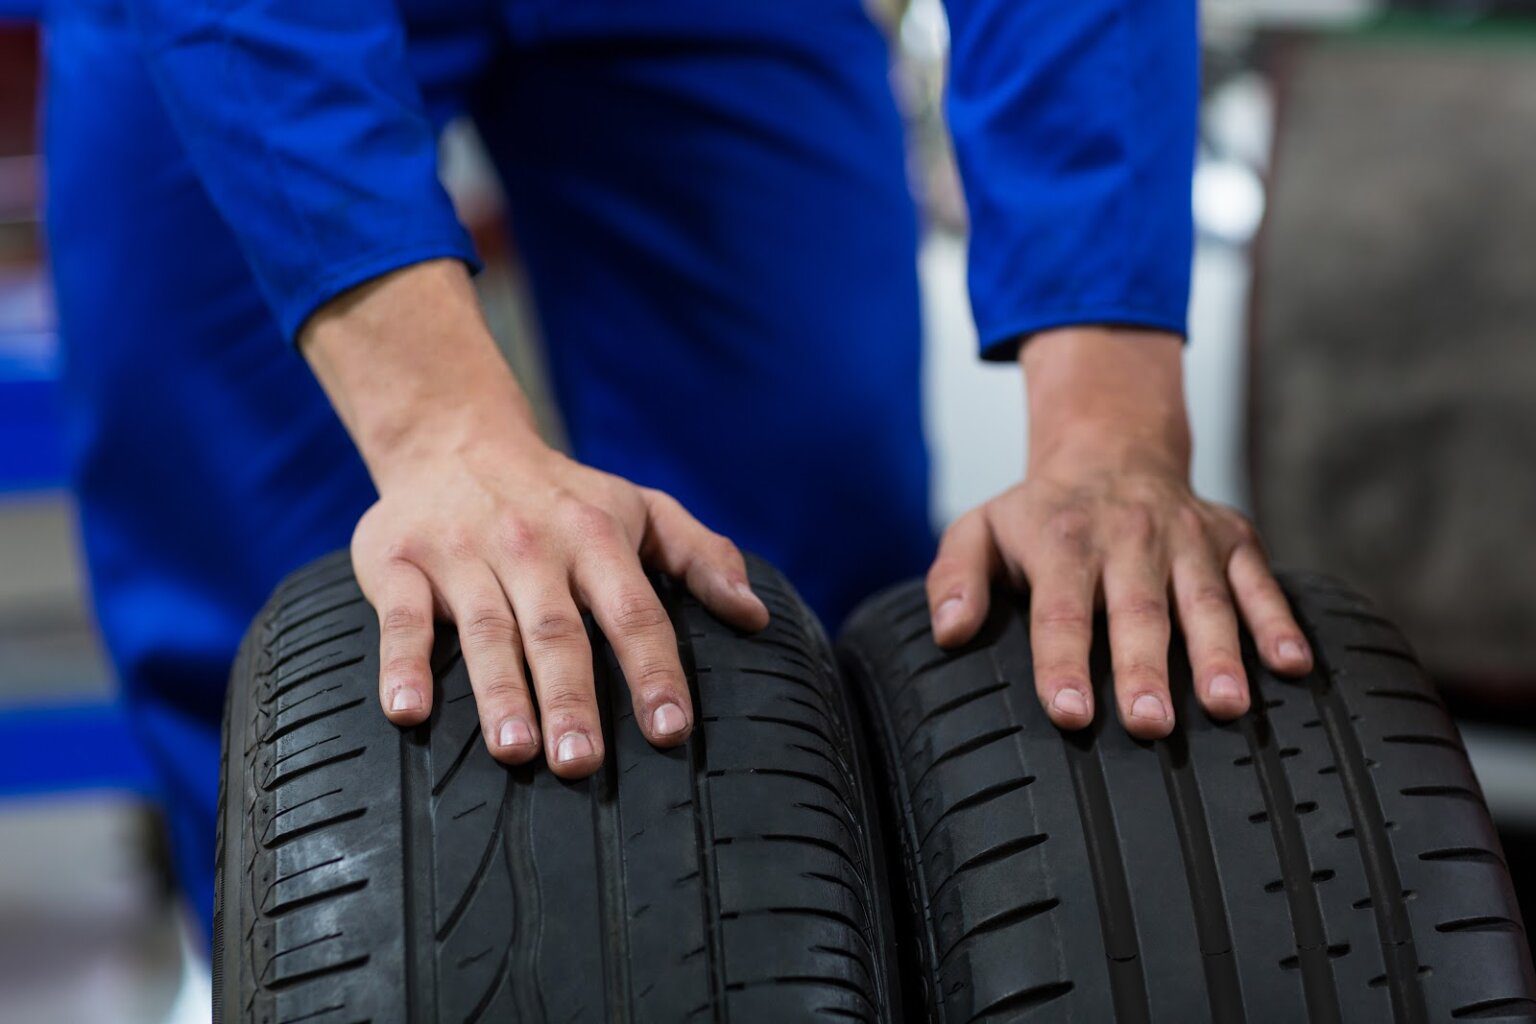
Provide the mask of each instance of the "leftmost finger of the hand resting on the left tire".
[{"label": "leftmost finger of the hand resting on the left tire", "polygon": [[418,725],[432,712],[432,585],[415,565],[396,562],[384,571],[373,603],[379,703],[395,725]]}]

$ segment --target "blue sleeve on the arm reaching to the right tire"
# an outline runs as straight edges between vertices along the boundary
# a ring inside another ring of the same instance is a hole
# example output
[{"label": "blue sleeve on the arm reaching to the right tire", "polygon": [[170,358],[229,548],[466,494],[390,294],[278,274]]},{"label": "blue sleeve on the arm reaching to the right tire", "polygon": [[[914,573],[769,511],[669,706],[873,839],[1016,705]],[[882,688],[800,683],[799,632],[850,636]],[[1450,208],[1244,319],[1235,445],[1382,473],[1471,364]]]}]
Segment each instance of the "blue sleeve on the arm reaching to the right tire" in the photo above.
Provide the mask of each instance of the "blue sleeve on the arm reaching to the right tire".
[{"label": "blue sleeve on the arm reaching to the right tire", "polygon": [[949,0],[949,127],[988,359],[1071,324],[1184,333],[1195,0]]}]

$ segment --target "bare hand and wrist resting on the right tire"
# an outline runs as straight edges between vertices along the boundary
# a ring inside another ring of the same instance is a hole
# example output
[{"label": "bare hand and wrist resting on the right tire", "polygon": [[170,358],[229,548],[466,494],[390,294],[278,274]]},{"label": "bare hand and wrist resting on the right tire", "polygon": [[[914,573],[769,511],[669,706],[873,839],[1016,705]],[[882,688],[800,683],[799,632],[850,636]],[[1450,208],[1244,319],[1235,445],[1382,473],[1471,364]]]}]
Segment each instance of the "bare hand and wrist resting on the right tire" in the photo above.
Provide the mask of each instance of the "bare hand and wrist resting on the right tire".
[{"label": "bare hand and wrist resting on the right tire", "polygon": [[934,639],[946,648],[975,636],[998,571],[1031,590],[1035,689],[1064,729],[1094,717],[1095,603],[1109,619],[1120,720],[1140,738],[1174,728],[1175,614],[1197,695],[1218,718],[1249,708],[1240,614],[1270,669],[1312,668],[1253,527],[1190,491],[1180,348],[1172,335],[1103,329],[1031,339],[1020,356],[1029,471],[949,527],[928,574]]}]

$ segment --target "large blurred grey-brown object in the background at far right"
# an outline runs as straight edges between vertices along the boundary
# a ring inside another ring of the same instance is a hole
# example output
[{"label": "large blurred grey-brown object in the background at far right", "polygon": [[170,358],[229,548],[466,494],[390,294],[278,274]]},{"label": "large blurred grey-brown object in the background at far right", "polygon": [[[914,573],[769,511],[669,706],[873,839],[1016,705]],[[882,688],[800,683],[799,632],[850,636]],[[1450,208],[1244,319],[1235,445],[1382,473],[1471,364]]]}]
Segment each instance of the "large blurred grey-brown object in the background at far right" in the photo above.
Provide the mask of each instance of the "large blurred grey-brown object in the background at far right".
[{"label": "large blurred grey-brown object in the background at far right", "polygon": [[1536,705],[1536,34],[1292,40],[1275,66],[1260,525],[1441,680]]}]

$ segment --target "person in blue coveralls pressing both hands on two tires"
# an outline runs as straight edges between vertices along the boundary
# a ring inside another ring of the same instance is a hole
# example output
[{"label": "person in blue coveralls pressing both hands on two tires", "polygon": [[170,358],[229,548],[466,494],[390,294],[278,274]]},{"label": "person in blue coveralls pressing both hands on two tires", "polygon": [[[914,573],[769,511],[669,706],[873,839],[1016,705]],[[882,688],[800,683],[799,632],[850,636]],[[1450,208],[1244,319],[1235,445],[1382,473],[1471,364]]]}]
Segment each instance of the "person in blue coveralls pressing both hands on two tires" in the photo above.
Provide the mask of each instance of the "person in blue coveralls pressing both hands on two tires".
[{"label": "person in blue coveralls pressing both hands on two tires", "polygon": [[[581,613],[645,735],[682,743],[694,709],[645,568],[759,628],[737,545],[831,623],[926,570],[949,646],[989,579],[1029,585],[1040,700],[1066,729],[1172,728],[1175,616],[1210,714],[1247,708],[1238,616],[1272,668],[1310,665],[1250,527],[1189,487],[1195,0],[949,3],[971,298],[982,358],[1025,368],[1029,464],[937,554],[917,226],[860,0],[55,0],[49,18],[84,545],[204,915],[232,654],[286,573],[349,539],[384,714],[427,717],[433,631],[458,629],[492,754],[565,778],[604,757]],[[462,114],[505,186],[568,456],[470,286],[436,167]],[[1095,602],[1114,709],[1089,686]]]}]

